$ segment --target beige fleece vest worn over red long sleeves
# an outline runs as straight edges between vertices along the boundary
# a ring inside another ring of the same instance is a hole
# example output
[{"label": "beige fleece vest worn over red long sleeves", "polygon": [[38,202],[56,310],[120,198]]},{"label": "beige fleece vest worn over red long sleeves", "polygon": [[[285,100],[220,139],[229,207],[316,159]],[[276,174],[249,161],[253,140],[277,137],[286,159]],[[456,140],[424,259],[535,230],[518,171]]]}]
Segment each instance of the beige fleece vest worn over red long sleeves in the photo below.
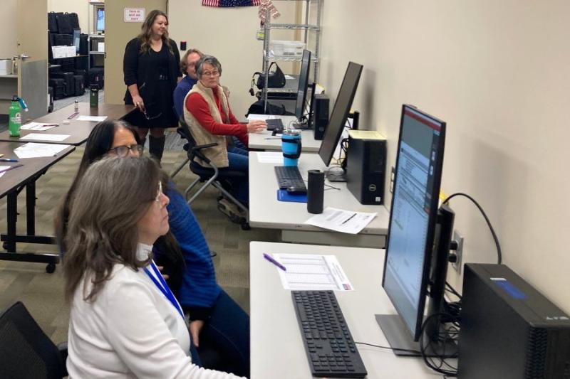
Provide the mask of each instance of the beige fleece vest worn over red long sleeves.
[{"label": "beige fleece vest worn over red long sleeves", "polygon": [[[222,114],[219,113],[219,109],[216,105],[216,100],[214,99],[214,92],[211,88],[204,87],[201,82],[198,82],[192,87],[192,90],[187,93],[184,99],[184,105],[186,105],[187,97],[190,96],[191,93],[198,93],[200,96],[206,100],[209,107],[209,113],[212,114],[212,117],[216,122],[227,124],[229,123],[229,107],[227,104],[227,97],[224,93],[224,90],[221,86],[217,87],[217,92],[219,96],[219,100],[222,104],[222,110],[224,111],[223,119]],[[211,134],[206,129],[199,124],[197,119],[187,110],[186,106],[183,107],[184,109],[184,119],[185,122],[190,127],[190,133],[192,137],[194,137],[197,145],[204,145],[204,144],[212,144],[217,143],[217,146],[208,147],[206,149],[202,149],[202,153],[207,156],[207,158],[212,161],[216,166],[219,168],[229,166],[227,160],[227,142],[225,136],[219,136],[215,134]],[[202,166],[206,167],[205,164],[201,159],[196,159],[197,163],[201,164]]]}]

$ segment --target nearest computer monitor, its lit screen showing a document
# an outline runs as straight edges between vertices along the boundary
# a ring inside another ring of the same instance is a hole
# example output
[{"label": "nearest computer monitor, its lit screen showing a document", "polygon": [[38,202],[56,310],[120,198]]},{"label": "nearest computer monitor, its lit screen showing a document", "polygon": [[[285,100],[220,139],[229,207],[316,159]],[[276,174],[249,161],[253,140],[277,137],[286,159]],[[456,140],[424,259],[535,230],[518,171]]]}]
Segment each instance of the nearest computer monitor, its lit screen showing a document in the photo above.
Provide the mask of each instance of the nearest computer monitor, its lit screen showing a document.
[{"label": "nearest computer monitor, its lit screen showing a document", "polygon": [[418,351],[415,341],[425,320],[426,297],[429,293],[433,303],[427,317],[437,314],[432,305],[440,306],[445,289],[453,215],[447,209],[445,217],[438,217],[444,211],[438,213],[437,206],[444,144],[445,122],[403,105],[382,279],[398,315],[377,315],[390,345],[397,348]]}]

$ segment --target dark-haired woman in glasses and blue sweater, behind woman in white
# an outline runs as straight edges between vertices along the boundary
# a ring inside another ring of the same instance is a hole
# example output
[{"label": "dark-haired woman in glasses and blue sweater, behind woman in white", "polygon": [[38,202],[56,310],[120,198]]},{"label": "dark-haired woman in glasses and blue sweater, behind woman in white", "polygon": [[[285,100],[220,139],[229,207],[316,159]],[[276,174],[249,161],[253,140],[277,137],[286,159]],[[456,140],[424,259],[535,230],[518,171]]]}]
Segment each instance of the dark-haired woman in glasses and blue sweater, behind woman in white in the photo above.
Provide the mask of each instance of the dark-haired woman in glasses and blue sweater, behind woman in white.
[{"label": "dark-haired woman in glasses and blue sweater, behind woman in white", "polygon": [[[140,156],[138,134],[117,120],[97,124],[86,142],[76,178],[63,199],[56,217],[56,235],[65,241],[76,188],[88,167],[107,155]],[[162,188],[170,198],[167,205],[169,232],[152,247],[157,265],[163,266],[167,283],[185,313],[190,315],[193,347],[202,365],[249,376],[249,316],[216,282],[207,242],[185,198],[163,174]],[[66,247],[63,246],[63,250]],[[192,354],[193,361],[197,361]]]}]

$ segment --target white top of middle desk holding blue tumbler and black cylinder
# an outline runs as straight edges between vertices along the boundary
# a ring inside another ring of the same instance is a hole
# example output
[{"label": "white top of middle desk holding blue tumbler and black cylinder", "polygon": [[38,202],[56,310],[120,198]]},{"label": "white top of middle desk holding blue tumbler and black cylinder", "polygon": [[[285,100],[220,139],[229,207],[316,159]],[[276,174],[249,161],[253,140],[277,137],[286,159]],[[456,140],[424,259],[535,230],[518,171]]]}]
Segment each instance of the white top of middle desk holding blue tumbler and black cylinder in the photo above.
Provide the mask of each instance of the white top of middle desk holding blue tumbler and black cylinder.
[{"label": "white top of middle desk holding blue tumbler and black cylinder", "polygon": [[[259,228],[330,231],[304,224],[312,214],[307,212],[306,203],[290,203],[277,201],[277,179],[274,166],[276,164],[259,163],[257,152],[249,153],[249,224]],[[301,154],[299,171],[304,179],[309,169],[326,169],[318,154]],[[360,212],[376,212],[372,220],[361,234],[388,234],[390,213],[384,205],[362,205],[346,188],[346,183],[329,183],[340,191],[326,189],[324,191],[324,207],[341,208]],[[334,232],[333,232],[334,233]],[[343,233],[338,233],[343,234]]]}]

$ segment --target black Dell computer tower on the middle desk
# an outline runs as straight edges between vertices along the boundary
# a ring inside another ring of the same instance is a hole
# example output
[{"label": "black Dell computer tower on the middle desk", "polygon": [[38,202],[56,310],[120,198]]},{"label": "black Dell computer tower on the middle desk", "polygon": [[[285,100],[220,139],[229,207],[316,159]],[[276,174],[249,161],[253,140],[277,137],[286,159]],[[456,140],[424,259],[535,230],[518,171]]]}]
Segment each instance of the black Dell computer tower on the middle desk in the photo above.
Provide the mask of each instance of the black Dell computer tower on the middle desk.
[{"label": "black Dell computer tower on the middle desk", "polygon": [[346,186],[353,196],[366,205],[384,203],[386,139],[368,130],[348,132]]}]

